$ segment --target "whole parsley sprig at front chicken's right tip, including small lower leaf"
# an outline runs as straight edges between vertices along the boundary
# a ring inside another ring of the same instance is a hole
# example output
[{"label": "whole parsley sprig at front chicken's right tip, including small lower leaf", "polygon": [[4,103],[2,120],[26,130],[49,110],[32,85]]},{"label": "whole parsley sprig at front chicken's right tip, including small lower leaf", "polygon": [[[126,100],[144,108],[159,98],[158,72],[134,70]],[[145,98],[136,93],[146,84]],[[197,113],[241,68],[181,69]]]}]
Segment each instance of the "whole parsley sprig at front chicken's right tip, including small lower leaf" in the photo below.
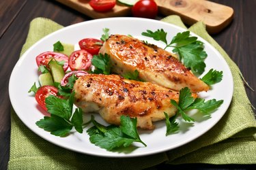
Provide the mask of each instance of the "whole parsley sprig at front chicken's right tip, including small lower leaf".
[{"label": "whole parsley sprig at front chicken's right tip, including small lower leaf", "polygon": [[[216,99],[211,99],[205,101],[205,99],[192,97],[190,89],[185,87],[180,90],[179,102],[171,99],[171,104],[177,108],[177,113],[175,116],[169,118],[168,114],[165,113],[166,125],[167,125],[167,135],[175,133],[178,130],[178,123],[175,122],[175,118],[181,115],[186,122],[195,122],[193,118],[188,116],[186,112],[190,109],[197,109],[199,112],[210,115],[215,109],[221,106],[223,100],[216,101]],[[169,120],[169,121],[168,121]]]}]

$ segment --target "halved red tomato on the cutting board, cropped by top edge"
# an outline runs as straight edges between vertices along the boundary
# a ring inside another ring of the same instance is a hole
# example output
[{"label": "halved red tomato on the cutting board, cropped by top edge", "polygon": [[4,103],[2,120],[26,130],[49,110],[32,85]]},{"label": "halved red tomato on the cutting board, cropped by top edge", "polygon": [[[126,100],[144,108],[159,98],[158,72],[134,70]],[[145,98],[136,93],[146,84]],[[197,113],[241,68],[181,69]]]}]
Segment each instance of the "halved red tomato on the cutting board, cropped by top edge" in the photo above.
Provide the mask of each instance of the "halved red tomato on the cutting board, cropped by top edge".
[{"label": "halved red tomato on the cutting board, cropped by top edge", "polygon": [[107,12],[115,7],[115,0],[91,0],[89,5],[97,12]]}]

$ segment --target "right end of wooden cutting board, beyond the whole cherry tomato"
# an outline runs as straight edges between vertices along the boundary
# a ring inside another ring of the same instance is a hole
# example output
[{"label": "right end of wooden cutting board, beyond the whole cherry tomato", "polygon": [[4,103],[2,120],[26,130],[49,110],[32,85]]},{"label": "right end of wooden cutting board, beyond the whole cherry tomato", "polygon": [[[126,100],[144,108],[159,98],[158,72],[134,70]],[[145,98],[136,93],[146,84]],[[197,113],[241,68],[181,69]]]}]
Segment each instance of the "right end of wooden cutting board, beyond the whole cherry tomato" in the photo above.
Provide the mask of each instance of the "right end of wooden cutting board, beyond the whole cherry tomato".
[{"label": "right end of wooden cutting board, beyond the whole cherry tomato", "polygon": [[201,20],[209,33],[218,33],[233,19],[233,9],[227,5],[204,0],[156,0],[161,14],[179,15],[183,22],[192,25]]}]

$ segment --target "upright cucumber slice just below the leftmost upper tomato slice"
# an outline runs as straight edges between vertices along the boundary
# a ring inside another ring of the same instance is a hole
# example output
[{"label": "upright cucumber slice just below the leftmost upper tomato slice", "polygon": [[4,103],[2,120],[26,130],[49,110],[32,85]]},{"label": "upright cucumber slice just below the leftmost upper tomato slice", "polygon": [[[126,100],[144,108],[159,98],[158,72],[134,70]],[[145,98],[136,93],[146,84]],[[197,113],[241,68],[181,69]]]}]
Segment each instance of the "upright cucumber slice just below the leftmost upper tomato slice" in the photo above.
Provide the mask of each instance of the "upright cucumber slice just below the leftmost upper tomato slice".
[{"label": "upright cucumber slice just below the leftmost upper tomato slice", "polygon": [[53,75],[53,81],[57,83],[61,83],[61,79],[64,77],[65,73],[63,67],[57,63],[57,61],[50,61],[48,63],[51,73]]}]

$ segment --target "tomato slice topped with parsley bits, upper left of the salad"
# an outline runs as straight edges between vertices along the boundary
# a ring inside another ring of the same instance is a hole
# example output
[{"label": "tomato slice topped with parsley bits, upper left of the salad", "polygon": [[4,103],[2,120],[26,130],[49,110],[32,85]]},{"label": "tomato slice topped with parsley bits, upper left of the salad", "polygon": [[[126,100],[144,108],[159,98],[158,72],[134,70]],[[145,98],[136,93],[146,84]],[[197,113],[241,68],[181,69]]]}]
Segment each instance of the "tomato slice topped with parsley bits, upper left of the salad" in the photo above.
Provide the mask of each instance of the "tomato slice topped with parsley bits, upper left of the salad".
[{"label": "tomato slice topped with parsley bits, upper left of the salad", "polygon": [[36,56],[35,60],[38,64],[38,67],[40,65],[45,65],[46,67],[48,67],[49,61],[51,61],[51,59],[53,58],[55,58],[56,61],[65,61],[63,65],[63,70],[66,71],[68,69],[68,56],[59,52],[43,52]]}]

